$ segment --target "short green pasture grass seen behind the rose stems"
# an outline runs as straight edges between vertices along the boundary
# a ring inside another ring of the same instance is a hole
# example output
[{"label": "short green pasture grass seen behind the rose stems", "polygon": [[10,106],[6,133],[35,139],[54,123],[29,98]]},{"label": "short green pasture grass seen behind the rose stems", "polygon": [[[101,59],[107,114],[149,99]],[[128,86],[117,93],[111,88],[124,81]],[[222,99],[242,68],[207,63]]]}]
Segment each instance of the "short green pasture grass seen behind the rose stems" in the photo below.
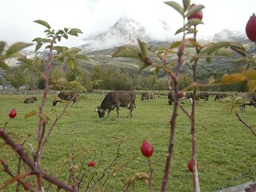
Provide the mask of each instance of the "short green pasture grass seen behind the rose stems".
[{"label": "short green pasture grass seen behind the rose stems", "polygon": [[[147,159],[140,153],[140,144],[143,140],[148,140],[154,147],[154,154],[151,157],[154,168],[153,188],[155,191],[160,191],[169,142],[169,119],[173,106],[168,106],[167,96],[160,96],[156,102],[143,103],[140,102],[140,96],[137,97],[133,119],[126,118],[129,111],[123,108],[120,109],[119,119],[116,119],[115,111],[110,114],[108,119],[99,119],[94,108],[100,106],[103,100],[102,94],[88,94],[86,99],[79,102],[77,108],[69,107],[69,115],[64,116],[58,122],[45,146],[41,158],[42,169],[67,182],[69,171],[68,165],[64,164],[64,161],[67,159],[66,154],[70,154],[75,140],[76,161],[82,160],[83,149],[93,148],[96,149],[95,162],[97,165],[101,156],[106,164],[113,159],[117,149],[114,137],[127,138],[122,144],[123,155],[120,161],[125,162],[127,159],[132,159],[132,161],[109,180],[104,190],[122,191],[126,178],[137,172],[149,174]],[[0,125],[4,125],[12,108],[17,109],[17,117],[7,125],[6,131],[14,132],[15,135],[22,138],[31,134],[28,143],[32,143],[35,148],[38,119],[36,117],[25,119],[24,115],[32,109],[37,111],[40,101],[36,104],[23,104],[25,98],[26,96],[22,95],[0,96]],[[54,120],[54,115],[51,113],[52,99],[53,96],[49,96],[45,106],[45,114],[49,115],[50,122]],[[41,100],[41,96],[39,96],[39,100]],[[184,103],[184,106],[190,110],[188,101]],[[222,102],[215,102],[213,98],[210,98],[207,104],[201,101],[197,106],[198,169],[202,191],[216,191],[232,178],[256,165],[256,138],[236,119],[234,114],[222,112],[223,106]],[[58,104],[55,109],[61,112],[62,107],[61,104]],[[254,108],[247,107],[247,112],[241,114],[241,117],[255,130]],[[168,191],[192,191],[192,173],[187,170],[187,162],[192,154],[190,124],[189,119],[181,111],[177,118],[175,134],[174,157],[169,173]],[[15,138],[15,141],[18,140]],[[11,149],[2,146],[1,143],[0,139],[0,155],[5,157],[10,169],[15,172],[17,158]],[[31,153],[27,144],[25,148]],[[89,153],[87,162],[93,159],[93,156],[93,152]],[[91,172],[92,168],[85,164],[83,170]],[[249,182],[253,177],[256,177],[256,169],[245,177],[239,178],[237,182],[232,182],[231,185]],[[1,171],[0,185],[7,179],[9,177]],[[135,185],[138,191],[148,191],[148,185],[145,183],[137,182]],[[12,184],[4,191],[14,191],[14,189],[15,184]],[[132,191],[131,188],[130,191]]]}]

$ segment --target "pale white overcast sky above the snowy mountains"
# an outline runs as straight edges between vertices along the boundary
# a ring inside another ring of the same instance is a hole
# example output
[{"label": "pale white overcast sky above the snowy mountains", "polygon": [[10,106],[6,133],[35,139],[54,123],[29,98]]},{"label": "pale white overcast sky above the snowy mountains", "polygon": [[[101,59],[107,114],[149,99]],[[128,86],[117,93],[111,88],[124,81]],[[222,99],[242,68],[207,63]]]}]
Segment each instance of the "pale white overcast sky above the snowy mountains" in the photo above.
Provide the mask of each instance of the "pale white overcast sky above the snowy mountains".
[{"label": "pale white overcast sky above the snowy mountains", "polygon": [[[81,38],[71,38],[69,46],[80,44],[82,38],[105,31],[120,17],[127,16],[154,31],[156,22],[164,20],[173,35],[181,27],[181,15],[162,0],[2,0],[0,6],[0,41],[31,42],[44,37],[45,28],[33,20],[45,20],[54,29],[80,28]],[[182,1],[179,0],[182,4]],[[223,28],[241,31],[256,12],[256,0],[194,0],[203,4],[200,35],[211,36]]]}]

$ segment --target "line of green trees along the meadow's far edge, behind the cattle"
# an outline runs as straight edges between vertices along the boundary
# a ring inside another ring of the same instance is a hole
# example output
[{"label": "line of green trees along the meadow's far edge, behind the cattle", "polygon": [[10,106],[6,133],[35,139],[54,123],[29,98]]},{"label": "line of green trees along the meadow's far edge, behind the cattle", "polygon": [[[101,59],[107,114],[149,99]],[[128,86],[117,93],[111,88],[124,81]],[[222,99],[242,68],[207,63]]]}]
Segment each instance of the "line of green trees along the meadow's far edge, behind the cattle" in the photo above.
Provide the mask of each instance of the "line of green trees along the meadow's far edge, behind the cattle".
[{"label": "line of green trees along the meadow's far edge, behind the cattle", "polygon": [[[87,90],[168,90],[166,77],[158,78],[155,74],[130,74],[128,70],[121,71],[116,67],[105,67],[102,65],[95,65],[89,71],[84,69],[79,64],[73,68],[65,64],[53,65],[49,74],[49,81],[66,78],[67,81],[78,81]],[[100,83],[90,85],[90,82],[100,80]],[[204,80],[201,80],[202,82]],[[192,83],[192,77],[187,74],[181,74],[179,87],[185,88]],[[45,81],[35,73],[23,70],[18,67],[12,74],[6,74],[0,80],[0,84],[12,85],[19,90],[22,85],[29,85],[30,90],[44,89]],[[245,92],[247,90],[246,83],[239,83],[233,85],[202,88],[200,91],[237,91]]]}]

